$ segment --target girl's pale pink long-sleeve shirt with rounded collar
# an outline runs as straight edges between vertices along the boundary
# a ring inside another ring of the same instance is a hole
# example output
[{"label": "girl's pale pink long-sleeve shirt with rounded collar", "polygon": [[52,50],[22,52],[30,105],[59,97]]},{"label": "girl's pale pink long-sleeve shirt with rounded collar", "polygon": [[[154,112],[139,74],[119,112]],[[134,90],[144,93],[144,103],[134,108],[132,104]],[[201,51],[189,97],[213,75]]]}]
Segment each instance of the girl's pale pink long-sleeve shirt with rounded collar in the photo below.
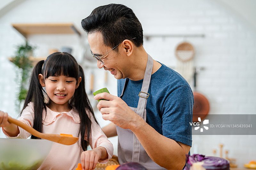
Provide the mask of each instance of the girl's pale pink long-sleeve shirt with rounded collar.
[{"label": "girl's pale pink long-sleeve shirt with rounded collar", "polygon": [[[68,112],[55,112],[46,107],[46,117],[45,110],[43,111],[43,133],[51,134],[71,134],[77,137],[80,128],[80,117],[76,110],[72,109]],[[106,135],[101,130],[99,124],[97,124],[90,113],[87,113],[92,121],[91,136],[90,136],[90,146],[93,148],[102,146],[108,152],[108,159],[99,161],[100,163],[107,163],[113,155],[113,145],[108,140]],[[21,116],[18,120],[23,123],[33,127],[34,123],[34,104],[32,102],[28,103],[28,106],[23,110]],[[8,138],[28,138],[31,134],[24,129],[20,128],[20,133],[17,137],[10,137],[4,131],[4,134]],[[87,135],[85,134],[84,139],[87,140]],[[78,142],[73,145],[63,145],[53,142],[52,149],[45,159],[44,163],[39,167],[39,169],[49,169],[49,170],[60,170],[69,169],[73,170],[80,163],[80,156],[83,152],[81,144],[81,135],[79,135]],[[79,145],[80,144],[80,145]]]}]

